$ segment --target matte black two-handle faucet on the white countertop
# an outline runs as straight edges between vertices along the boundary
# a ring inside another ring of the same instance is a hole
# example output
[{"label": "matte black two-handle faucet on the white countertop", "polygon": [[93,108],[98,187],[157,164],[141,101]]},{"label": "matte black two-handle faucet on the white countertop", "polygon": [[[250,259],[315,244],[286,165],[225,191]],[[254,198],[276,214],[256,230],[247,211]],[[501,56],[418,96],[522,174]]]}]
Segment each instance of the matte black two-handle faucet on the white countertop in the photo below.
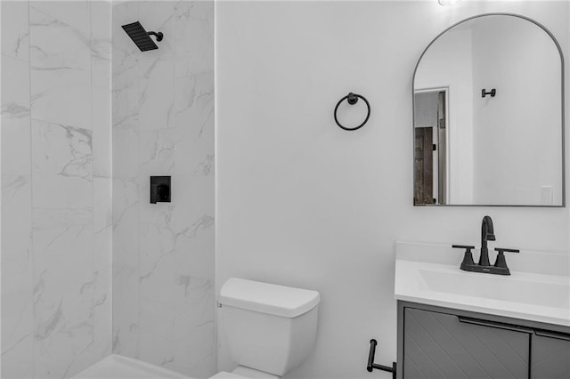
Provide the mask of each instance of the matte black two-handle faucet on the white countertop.
[{"label": "matte black two-handle faucet on the white countertop", "polygon": [[497,261],[492,266],[489,262],[489,249],[487,248],[487,241],[495,240],[495,232],[493,230],[493,220],[490,216],[485,216],[481,222],[481,255],[479,255],[479,263],[473,262],[473,255],[471,250],[475,246],[466,245],[453,245],[455,248],[465,249],[465,256],[461,262],[460,269],[464,271],[485,272],[487,274],[510,275],[509,267],[505,261],[505,252],[518,253],[516,249],[506,249],[497,247],[495,250],[498,252]]}]

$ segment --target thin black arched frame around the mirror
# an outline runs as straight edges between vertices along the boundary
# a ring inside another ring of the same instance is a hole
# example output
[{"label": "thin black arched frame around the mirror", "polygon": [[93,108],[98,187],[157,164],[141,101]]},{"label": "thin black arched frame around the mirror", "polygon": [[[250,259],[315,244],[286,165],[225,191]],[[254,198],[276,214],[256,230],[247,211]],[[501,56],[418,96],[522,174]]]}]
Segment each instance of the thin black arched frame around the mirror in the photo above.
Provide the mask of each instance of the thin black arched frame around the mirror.
[{"label": "thin black arched frame around the mirror", "polygon": [[[428,49],[431,47],[432,44],[434,44],[440,36],[443,36],[445,33],[447,33],[447,31],[449,31],[452,28],[455,28],[456,26],[467,22],[469,20],[475,20],[481,17],[485,17],[485,16],[509,16],[509,17],[517,17],[519,19],[522,20],[527,20],[532,22],[534,25],[538,26],[539,28],[542,28],[542,30],[544,30],[544,32],[546,32],[550,38],[552,39],[552,41],[554,42],[554,44],[556,44],[556,47],[558,49],[558,54],[560,55],[560,117],[561,117],[561,128],[562,128],[562,133],[561,133],[561,143],[562,143],[562,204],[559,206],[539,206],[539,205],[501,205],[501,204],[413,204],[413,206],[510,206],[510,207],[540,207],[540,208],[564,208],[566,207],[566,152],[565,152],[565,140],[566,140],[566,133],[565,133],[565,124],[564,124],[564,116],[565,116],[565,86],[564,86],[564,54],[562,52],[562,49],[560,48],[560,44],[558,44],[558,40],[556,39],[556,37],[550,32],[550,30],[546,27],[544,27],[540,22],[533,20],[529,17],[526,16],[522,16],[520,14],[516,14],[516,13],[508,13],[508,12],[491,12],[491,13],[482,13],[482,14],[477,14],[475,16],[471,16],[468,17],[467,19],[464,20],[460,20],[459,22],[455,22],[454,24],[452,24],[452,26],[450,26],[449,28],[445,28],[444,31],[442,31],[441,33],[439,33],[429,44],[428,46],[426,46],[426,48],[424,49],[423,52],[421,52],[421,55],[419,55],[419,59],[418,62],[416,63],[416,67],[413,70],[413,76],[411,78],[411,127],[412,127],[412,132],[414,130],[414,125],[415,125],[415,96],[414,96],[414,83],[416,81],[416,73],[418,72],[418,67],[419,67],[419,63],[421,62],[421,59],[424,57],[425,53],[428,52]],[[411,159],[411,163],[412,163],[412,177],[413,177],[413,181],[412,181],[412,185],[411,185],[411,198],[414,198],[414,186],[415,186],[415,182],[416,182],[416,173],[414,170],[414,166],[413,166],[413,151],[415,148],[415,141],[413,138],[413,134],[411,133],[412,137],[411,137],[411,155],[412,155],[412,159]],[[413,200],[412,200],[413,201]]]}]

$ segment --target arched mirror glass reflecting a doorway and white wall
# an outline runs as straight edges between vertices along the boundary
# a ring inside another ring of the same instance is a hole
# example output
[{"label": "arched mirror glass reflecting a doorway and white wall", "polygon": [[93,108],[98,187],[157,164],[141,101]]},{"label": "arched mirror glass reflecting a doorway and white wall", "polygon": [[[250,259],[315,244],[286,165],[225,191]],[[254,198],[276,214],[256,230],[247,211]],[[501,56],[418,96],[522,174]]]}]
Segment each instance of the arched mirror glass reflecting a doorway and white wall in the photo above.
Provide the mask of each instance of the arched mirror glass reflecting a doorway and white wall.
[{"label": "arched mirror glass reflecting a doorway and white wall", "polygon": [[437,36],[413,79],[414,205],[565,206],[563,67],[517,15]]}]

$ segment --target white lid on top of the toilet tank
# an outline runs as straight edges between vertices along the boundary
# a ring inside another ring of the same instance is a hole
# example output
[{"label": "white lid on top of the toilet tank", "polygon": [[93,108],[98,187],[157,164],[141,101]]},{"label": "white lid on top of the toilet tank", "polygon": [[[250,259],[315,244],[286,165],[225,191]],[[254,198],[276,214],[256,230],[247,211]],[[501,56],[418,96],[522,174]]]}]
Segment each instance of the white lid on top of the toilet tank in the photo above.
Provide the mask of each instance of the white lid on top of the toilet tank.
[{"label": "white lid on top of the toilet tank", "polygon": [[320,300],[316,291],[240,278],[228,279],[219,298],[222,305],[286,318],[312,310]]}]

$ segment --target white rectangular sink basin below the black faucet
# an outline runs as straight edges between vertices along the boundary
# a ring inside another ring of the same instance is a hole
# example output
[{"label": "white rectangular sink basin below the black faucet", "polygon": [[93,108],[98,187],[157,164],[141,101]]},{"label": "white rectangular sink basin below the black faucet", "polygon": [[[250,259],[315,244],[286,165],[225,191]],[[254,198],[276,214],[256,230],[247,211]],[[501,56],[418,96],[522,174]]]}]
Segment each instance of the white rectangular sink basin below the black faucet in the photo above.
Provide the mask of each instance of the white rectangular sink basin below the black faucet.
[{"label": "white rectangular sink basin below the black faucet", "polygon": [[546,283],[517,278],[493,278],[489,275],[467,274],[419,269],[419,277],[431,291],[444,294],[473,296],[503,302],[519,302],[551,308],[570,306],[570,284]]}]

